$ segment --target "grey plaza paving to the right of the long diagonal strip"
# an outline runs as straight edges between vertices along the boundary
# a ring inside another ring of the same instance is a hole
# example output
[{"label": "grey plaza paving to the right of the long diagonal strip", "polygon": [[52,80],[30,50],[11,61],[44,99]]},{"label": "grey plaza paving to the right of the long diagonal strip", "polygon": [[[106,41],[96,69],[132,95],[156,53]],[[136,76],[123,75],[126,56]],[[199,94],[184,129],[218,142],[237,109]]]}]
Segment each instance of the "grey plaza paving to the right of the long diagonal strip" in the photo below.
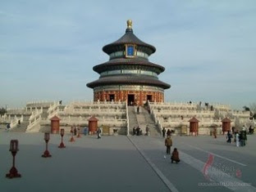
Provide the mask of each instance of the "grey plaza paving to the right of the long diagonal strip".
[{"label": "grey plaza paving to the right of the long diagonal strip", "polygon": [[[219,136],[217,140],[211,136],[172,136],[171,150],[176,147],[180,151],[181,163],[178,164],[171,164],[170,155],[165,154],[162,137],[130,136],[130,140],[151,159],[176,190],[256,191],[255,136],[249,136],[248,145],[239,148],[235,143],[227,144],[225,136]],[[211,156],[213,162],[206,166]],[[208,167],[208,172],[203,172],[204,167]]]}]

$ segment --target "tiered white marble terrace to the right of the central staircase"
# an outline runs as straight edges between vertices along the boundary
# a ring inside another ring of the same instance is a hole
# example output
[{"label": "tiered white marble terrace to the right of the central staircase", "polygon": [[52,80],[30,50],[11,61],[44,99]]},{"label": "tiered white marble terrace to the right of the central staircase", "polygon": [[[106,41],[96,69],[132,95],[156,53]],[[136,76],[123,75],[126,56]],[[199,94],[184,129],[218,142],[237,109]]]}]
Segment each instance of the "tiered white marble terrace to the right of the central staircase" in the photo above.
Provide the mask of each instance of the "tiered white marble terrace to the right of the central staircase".
[{"label": "tiered white marble terrace to the right of the central staircase", "polygon": [[199,134],[210,134],[213,127],[218,127],[220,133],[222,130],[222,119],[230,118],[231,126],[240,128],[242,124],[249,127],[252,123],[249,120],[248,111],[231,110],[230,105],[199,103],[149,103],[150,113],[158,124],[158,127],[166,127],[174,130],[177,134],[181,133],[181,127],[190,127],[188,122],[190,118],[199,120]]}]

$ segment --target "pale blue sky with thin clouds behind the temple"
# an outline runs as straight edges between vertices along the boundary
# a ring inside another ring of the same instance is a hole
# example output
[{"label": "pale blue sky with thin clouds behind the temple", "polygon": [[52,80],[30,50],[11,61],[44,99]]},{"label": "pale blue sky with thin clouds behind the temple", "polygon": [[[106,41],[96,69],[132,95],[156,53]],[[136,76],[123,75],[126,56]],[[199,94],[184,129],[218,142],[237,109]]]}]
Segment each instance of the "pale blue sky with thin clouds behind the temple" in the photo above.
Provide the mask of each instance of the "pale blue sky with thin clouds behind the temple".
[{"label": "pale blue sky with thin clouds behind the temple", "polygon": [[1,0],[0,107],[93,100],[93,67],[129,19],[157,48],[149,60],[166,69],[165,101],[256,103],[254,0]]}]

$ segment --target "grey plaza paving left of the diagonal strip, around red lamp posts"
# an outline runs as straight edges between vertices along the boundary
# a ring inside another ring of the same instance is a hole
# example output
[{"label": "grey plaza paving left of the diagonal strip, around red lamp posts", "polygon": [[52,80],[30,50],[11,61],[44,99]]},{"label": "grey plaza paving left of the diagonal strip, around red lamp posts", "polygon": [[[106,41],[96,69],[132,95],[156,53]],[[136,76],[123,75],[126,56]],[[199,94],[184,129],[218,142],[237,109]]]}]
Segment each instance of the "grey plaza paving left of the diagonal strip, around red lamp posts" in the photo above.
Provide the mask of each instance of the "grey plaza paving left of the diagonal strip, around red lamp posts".
[{"label": "grey plaza paving left of the diagonal strip, around red lamp posts", "polygon": [[[51,135],[52,158],[43,159],[43,133],[0,132],[0,191],[170,191],[126,136],[83,136],[75,142]],[[7,179],[9,143],[18,139],[16,167],[21,178]]]}]

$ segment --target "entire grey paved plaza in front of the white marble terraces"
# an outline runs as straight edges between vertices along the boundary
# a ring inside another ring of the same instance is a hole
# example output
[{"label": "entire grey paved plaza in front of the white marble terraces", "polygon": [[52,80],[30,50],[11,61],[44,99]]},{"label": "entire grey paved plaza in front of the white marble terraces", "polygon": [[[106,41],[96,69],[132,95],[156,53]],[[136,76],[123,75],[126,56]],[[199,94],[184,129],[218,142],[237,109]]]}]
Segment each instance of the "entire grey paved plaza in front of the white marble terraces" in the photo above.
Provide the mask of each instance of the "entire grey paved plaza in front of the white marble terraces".
[{"label": "entire grey paved plaza in front of the white marble terraces", "polygon": [[[171,164],[159,136],[82,136],[74,143],[64,136],[62,150],[60,138],[51,135],[53,157],[43,159],[43,133],[0,131],[0,191],[256,191],[255,136],[239,148],[225,136],[172,136],[178,164]],[[11,139],[19,140],[16,167],[22,177],[10,180],[5,174]]]}]

